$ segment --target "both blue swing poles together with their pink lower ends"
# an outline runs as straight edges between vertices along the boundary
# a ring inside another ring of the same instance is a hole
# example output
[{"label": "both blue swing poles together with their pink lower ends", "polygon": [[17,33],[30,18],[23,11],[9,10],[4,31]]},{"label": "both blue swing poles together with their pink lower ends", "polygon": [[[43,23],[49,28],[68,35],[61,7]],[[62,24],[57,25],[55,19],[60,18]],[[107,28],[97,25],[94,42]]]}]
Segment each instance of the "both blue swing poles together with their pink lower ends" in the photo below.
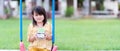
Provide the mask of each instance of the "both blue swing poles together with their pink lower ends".
[{"label": "both blue swing poles together with their pink lower ends", "polygon": [[[57,51],[57,46],[55,43],[55,0],[52,0],[52,48],[51,51]],[[20,51],[26,51],[23,43],[23,35],[22,35],[22,0],[20,0]]]}]

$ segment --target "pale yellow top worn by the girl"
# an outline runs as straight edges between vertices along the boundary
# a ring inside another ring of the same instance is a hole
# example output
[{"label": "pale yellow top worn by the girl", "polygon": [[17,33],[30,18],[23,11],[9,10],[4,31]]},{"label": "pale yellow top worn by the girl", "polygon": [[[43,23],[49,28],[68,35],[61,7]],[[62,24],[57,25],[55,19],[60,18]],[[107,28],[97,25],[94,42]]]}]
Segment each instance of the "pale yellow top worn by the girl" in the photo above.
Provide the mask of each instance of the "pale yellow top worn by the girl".
[{"label": "pale yellow top worn by the girl", "polygon": [[[43,28],[45,30],[45,34],[50,35],[50,36],[52,35],[52,32],[51,32],[52,29],[51,29],[50,23],[46,23]],[[28,27],[28,39],[29,39],[29,37],[36,35],[38,30],[39,30],[39,28],[37,26],[33,27],[33,25],[30,24]],[[32,47],[46,48],[46,49],[50,50],[52,47],[52,40],[46,40],[45,38],[44,39],[36,39],[34,42],[30,42],[29,48],[32,48]]]}]

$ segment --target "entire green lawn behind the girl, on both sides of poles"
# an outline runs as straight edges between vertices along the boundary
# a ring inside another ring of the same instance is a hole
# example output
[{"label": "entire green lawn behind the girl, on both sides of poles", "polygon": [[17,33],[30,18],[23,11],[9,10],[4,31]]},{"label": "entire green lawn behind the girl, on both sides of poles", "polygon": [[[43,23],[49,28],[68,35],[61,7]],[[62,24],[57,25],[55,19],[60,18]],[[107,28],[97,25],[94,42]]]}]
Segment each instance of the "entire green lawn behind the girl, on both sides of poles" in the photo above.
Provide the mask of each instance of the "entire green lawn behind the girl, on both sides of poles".
[{"label": "entire green lawn behind the girl, on both sides of poles", "polygon": [[[30,20],[23,20],[24,43]],[[62,50],[120,50],[120,20],[56,19],[56,42]],[[0,49],[19,49],[19,19],[0,20]]]}]

